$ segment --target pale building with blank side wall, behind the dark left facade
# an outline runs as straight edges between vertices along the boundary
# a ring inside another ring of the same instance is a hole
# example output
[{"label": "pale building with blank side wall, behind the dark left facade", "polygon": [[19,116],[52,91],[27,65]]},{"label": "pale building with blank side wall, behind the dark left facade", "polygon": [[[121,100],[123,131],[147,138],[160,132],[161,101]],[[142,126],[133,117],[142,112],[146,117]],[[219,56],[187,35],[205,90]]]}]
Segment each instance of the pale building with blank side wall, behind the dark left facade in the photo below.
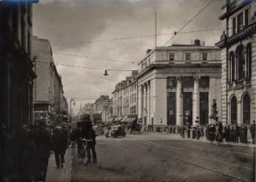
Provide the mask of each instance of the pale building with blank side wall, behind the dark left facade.
[{"label": "pale building with blank side wall, behind the dark left facade", "polygon": [[[34,71],[34,123],[63,122],[63,84],[52,58],[52,48],[46,39],[32,37]],[[67,112],[67,111],[66,111]]]}]

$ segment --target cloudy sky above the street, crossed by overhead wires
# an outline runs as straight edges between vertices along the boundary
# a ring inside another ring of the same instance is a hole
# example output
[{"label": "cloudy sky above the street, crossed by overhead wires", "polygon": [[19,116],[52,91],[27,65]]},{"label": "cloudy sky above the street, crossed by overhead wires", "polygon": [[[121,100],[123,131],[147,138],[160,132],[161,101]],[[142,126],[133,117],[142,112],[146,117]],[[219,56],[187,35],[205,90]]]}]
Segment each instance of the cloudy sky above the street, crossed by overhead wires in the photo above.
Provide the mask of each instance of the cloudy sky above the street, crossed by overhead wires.
[{"label": "cloudy sky above the street, crossed by overhead wires", "polygon": [[[146,36],[154,34],[155,12],[157,34],[164,34],[157,36],[157,46],[163,46],[173,32],[208,2],[210,0],[40,0],[33,6],[33,34],[51,42],[64,95],[68,101],[75,98],[72,108],[78,112],[80,105],[95,102],[100,95],[111,97],[115,85],[131,74],[108,71],[109,75],[104,76],[104,70],[139,69],[138,62],[146,55],[146,49],[154,47],[154,37]],[[214,0],[182,30],[211,31],[176,34],[168,45],[191,44],[197,38],[206,45],[215,45],[222,34],[221,29],[216,29],[222,27],[218,17],[223,4],[223,0]]]}]

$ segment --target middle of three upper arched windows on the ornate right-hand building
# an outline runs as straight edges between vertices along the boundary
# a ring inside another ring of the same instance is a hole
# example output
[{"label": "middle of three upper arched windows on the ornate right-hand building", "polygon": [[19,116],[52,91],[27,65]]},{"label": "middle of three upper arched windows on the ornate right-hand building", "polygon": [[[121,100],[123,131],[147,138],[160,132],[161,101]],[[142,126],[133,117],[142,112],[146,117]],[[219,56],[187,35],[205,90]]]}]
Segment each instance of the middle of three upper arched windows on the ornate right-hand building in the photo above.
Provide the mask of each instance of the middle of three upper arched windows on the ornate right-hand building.
[{"label": "middle of three upper arched windows on the ornate right-hand building", "polygon": [[243,52],[243,45],[240,45],[236,51],[236,58],[237,58],[237,66],[238,66],[238,80],[245,78],[245,59],[244,59],[244,52]]}]

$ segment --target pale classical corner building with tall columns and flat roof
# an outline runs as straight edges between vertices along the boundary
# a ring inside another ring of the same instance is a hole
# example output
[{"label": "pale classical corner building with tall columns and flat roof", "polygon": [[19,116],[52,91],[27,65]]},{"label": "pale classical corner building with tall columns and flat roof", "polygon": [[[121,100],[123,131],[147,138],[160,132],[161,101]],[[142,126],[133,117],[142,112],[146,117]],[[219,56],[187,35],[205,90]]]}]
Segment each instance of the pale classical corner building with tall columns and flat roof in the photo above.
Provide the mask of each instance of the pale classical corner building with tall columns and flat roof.
[{"label": "pale classical corner building with tall columns and flat roof", "polygon": [[[215,99],[222,116],[221,51],[200,40],[147,50],[139,62],[138,117],[145,125],[210,122]],[[197,119],[198,117],[198,119]]]}]

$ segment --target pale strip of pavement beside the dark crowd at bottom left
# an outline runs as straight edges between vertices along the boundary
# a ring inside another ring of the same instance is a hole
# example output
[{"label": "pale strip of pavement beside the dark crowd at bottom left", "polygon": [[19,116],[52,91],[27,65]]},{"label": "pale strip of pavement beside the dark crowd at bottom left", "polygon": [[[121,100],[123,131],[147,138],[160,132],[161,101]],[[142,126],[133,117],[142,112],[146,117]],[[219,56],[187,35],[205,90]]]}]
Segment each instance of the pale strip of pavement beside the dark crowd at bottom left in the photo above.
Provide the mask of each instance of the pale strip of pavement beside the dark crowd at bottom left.
[{"label": "pale strip of pavement beside the dark crowd at bottom left", "polygon": [[63,169],[57,169],[55,157],[52,153],[49,158],[45,182],[69,182],[72,159],[72,149],[67,148]]}]

